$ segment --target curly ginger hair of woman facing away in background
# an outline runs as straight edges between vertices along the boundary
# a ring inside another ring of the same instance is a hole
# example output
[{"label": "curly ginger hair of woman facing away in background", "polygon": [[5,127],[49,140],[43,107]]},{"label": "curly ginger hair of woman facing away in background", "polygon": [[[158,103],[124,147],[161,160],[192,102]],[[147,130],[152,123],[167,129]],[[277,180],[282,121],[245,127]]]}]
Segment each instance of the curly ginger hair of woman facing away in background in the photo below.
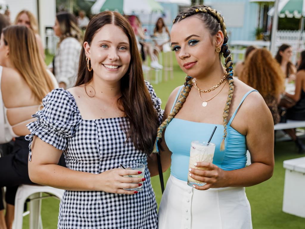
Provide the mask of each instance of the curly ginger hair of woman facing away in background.
[{"label": "curly ginger hair of woman facing away in background", "polygon": [[278,62],[266,49],[257,49],[246,61],[240,79],[266,98],[278,97],[284,89],[284,77]]}]

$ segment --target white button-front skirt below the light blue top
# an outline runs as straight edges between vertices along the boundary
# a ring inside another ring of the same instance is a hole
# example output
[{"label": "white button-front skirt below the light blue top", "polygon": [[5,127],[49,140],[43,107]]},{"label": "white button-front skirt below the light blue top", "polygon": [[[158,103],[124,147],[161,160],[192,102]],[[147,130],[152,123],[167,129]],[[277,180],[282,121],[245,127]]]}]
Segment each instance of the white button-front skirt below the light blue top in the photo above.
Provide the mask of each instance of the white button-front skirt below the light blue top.
[{"label": "white button-front skirt below the light blue top", "polygon": [[244,187],[200,191],[170,175],[158,214],[159,229],[252,229]]}]

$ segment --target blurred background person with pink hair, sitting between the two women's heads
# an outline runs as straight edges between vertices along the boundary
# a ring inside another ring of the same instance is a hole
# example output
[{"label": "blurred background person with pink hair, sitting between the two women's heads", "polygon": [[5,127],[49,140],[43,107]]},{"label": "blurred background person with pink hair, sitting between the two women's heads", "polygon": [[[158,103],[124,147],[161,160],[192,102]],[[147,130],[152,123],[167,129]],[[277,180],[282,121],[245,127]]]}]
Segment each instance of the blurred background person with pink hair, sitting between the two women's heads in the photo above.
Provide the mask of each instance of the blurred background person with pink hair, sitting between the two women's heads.
[{"label": "blurred background person with pink hair, sitting between the two women's heads", "polygon": [[[144,52],[150,57],[150,67],[155,69],[163,69],[163,66],[159,64],[157,56],[154,54],[152,45],[150,43],[145,42],[145,34],[142,28],[142,24],[139,18],[135,15],[131,15],[128,17],[128,21],[131,24],[131,27],[135,33],[135,37],[137,39],[137,43],[141,43],[143,45]],[[139,45],[138,45],[139,48]]]}]

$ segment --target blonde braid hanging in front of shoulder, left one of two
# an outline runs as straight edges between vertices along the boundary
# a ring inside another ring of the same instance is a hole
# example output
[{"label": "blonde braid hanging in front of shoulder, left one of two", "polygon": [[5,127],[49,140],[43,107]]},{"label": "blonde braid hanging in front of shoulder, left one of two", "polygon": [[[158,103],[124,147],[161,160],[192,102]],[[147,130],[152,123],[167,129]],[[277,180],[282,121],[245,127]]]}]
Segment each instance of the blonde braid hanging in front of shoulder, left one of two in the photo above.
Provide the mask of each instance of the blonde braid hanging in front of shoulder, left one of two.
[{"label": "blonde braid hanging in front of shoulder, left one of two", "polygon": [[158,130],[157,130],[157,137],[155,140],[155,144],[152,150],[152,153],[158,153],[159,149],[158,149],[158,141],[162,138],[162,132],[163,130],[166,128],[166,126],[170,123],[171,120],[173,120],[173,118],[175,117],[175,115],[179,112],[179,110],[181,109],[182,105],[184,104],[186,97],[188,96],[188,93],[191,90],[191,87],[193,85],[193,81],[192,81],[192,77],[190,76],[186,76],[185,77],[185,83],[184,83],[184,87],[181,90],[181,94],[178,97],[178,100],[175,103],[175,106],[173,108],[173,111],[168,115],[167,119],[164,120],[161,125],[159,126]]}]

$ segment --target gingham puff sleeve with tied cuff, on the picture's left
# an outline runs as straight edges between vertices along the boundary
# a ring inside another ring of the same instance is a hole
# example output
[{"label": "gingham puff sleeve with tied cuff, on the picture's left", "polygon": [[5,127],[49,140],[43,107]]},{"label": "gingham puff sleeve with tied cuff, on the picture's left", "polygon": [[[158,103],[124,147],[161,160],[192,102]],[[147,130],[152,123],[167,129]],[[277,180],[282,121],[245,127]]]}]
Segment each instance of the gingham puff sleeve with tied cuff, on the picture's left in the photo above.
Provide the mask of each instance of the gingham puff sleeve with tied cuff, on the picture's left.
[{"label": "gingham puff sleeve with tied cuff, on the picture's left", "polygon": [[64,151],[68,139],[73,137],[81,120],[76,102],[72,94],[64,89],[54,89],[42,100],[43,109],[32,115],[37,121],[27,125],[30,134],[29,150],[31,160],[31,144],[36,135],[44,142]]}]

